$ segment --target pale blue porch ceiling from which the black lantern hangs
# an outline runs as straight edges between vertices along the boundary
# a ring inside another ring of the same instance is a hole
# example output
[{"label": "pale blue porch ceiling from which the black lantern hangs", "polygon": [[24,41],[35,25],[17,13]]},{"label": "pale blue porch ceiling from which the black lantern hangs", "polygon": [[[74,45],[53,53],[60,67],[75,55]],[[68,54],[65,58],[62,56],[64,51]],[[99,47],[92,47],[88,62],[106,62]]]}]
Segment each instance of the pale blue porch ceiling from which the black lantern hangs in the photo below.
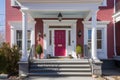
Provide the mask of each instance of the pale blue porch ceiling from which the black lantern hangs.
[{"label": "pale blue porch ceiling from which the black lantern hangs", "polygon": [[58,18],[59,12],[63,18],[85,18],[89,11],[29,11],[33,18]]}]

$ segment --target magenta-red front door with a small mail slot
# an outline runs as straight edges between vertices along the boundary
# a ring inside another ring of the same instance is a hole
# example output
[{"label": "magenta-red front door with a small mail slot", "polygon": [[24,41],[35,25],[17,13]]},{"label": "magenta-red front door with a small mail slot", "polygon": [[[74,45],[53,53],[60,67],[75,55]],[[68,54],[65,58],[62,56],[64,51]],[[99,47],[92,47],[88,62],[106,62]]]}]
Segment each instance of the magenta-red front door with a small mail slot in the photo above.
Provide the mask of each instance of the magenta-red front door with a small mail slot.
[{"label": "magenta-red front door with a small mail slot", "polygon": [[55,56],[65,56],[66,37],[65,30],[55,30]]}]

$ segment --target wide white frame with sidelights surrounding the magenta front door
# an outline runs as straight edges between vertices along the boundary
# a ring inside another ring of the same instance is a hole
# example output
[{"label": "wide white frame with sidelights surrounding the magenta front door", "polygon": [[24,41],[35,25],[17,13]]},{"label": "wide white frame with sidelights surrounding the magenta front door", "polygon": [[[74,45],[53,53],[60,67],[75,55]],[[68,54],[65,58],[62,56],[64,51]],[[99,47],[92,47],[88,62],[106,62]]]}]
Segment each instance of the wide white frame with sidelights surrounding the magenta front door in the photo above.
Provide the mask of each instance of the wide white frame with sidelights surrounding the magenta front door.
[{"label": "wide white frame with sidelights surrounding the magenta front door", "polygon": [[[52,45],[50,46],[48,44],[49,42],[49,30],[52,31],[52,34],[54,34],[54,30],[66,30],[66,56],[69,54],[69,50],[73,50],[71,54],[75,54],[75,48],[76,48],[76,24],[77,20],[62,20],[59,22],[58,20],[43,20],[43,34],[46,35],[43,38],[43,49],[45,58],[47,54],[51,54],[54,56],[54,35],[52,35]],[[71,28],[49,28],[49,26],[71,26]],[[67,45],[68,39],[68,31],[71,30],[71,36],[74,36],[74,38],[71,38],[71,42],[74,40],[74,43],[71,43],[71,46]],[[70,48],[71,47],[71,48]]]}]

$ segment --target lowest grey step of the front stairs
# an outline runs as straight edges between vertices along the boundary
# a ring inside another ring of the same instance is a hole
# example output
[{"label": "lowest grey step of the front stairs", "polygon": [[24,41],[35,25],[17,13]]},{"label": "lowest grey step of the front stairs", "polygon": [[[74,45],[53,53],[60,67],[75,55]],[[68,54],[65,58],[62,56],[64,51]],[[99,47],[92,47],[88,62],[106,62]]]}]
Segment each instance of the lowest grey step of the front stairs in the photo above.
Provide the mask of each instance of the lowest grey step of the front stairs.
[{"label": "lowest grey step of the front stairs", "polygon": [[30,76],[91,76],[91,72],[36,72]]}]

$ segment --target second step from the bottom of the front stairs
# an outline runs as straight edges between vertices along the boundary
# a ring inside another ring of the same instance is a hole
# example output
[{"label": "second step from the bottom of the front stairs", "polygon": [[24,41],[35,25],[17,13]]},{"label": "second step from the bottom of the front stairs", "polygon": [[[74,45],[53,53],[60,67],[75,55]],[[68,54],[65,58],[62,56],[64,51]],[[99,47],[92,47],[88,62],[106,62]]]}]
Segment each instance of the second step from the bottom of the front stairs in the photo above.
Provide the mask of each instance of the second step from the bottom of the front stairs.
[{"label": "second step from the bottom of the front stairs", "polygon": [[91,72],[90,68],[32,68],[30,72]]}]

